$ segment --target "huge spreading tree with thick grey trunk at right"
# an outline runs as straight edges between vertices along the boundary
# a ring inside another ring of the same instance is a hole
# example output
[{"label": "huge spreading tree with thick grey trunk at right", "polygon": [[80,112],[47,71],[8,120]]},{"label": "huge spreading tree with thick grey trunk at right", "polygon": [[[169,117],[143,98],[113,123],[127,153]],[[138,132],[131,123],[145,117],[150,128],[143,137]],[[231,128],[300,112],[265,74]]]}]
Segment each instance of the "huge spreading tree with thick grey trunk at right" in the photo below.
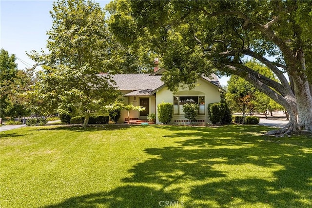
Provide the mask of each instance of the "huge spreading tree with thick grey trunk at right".
[{"label": "huge spreading tree with thick grey trunk at right", "polygon": [[[272,133],[312,131],[311,1],[120,0],[111,5],[111,30],[120,40],[141,41],[158,54],[169,89],[193,87],[199,75],[216,70],[234,74],[289,112],[289,124]],[[246,66],[245,56],[265,64],[278,82]]]}]

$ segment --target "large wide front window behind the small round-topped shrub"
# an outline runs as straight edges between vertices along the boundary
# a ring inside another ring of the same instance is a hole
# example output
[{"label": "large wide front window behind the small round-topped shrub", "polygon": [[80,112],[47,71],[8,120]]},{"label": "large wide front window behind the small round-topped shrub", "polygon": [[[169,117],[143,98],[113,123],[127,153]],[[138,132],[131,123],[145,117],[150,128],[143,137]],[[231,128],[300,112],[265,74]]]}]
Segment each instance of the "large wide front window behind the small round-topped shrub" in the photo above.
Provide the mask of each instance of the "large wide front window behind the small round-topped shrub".
[{"label": "large wide front window behind the small round-topped shrub", "polygon": [[183,104],[199,104],[198,115],[205,115],[205,96],[174,96],[174,115],[183,115]]}]

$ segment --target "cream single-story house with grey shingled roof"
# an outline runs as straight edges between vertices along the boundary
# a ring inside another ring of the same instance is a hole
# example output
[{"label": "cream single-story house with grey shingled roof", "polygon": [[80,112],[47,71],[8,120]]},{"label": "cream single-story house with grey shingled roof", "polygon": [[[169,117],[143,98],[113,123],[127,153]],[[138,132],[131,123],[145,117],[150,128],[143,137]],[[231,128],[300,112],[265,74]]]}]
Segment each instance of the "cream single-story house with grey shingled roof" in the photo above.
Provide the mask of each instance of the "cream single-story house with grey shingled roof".
[{"label": "cream single-story house with grey shingled roof", "polygon": [[[177,93],[171,92],[161,81],[162,72],[165,69],[155,67],[152,74],[116,74],[113,76],[117,88],[121,91],[126,104],[141,105],[145,111],[130,111],[130,120],[146,120],[147,115],[156,114],[156,124],[160,124],[157,115],[157,105],[162,101],[174,104],[173,124],[187,123],[184,117],[182,105],[185,103],[199,104],[199,112],[196,117],[197,124],[207,123],[207,107],[210,103],[220,102],[220,92],[223,90],[215,75],[212,78],[201,77],[197,80],[192,90],[180,89]],[[128,120],[128,112],[121,111],[118,123]]]}]

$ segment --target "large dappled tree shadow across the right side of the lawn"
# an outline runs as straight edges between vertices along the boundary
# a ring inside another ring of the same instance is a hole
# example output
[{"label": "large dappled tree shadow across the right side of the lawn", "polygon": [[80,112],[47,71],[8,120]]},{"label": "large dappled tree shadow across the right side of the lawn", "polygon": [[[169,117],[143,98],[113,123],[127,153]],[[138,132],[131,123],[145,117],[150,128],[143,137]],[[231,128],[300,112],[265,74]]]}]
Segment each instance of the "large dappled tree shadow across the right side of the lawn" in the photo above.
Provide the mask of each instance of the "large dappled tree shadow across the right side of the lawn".
[{"label": "large dappled tree shadow across the right side of the lawn", "polygon": [[[259,127],[244,131],[239,126],[169,129],[176,132],[168,131],[166,137],[186,139],[178,141],[178,146],[145,149],[150,159],[129,169],[132,176],[121,179],[122,186],[72,197],[46,208],[99,204],[109,208],[151,208],[161,207],[161,201],[176,202],[181,198],[186,200],[182,201],[186,208],[257,207],[259,203],[274,208],[312,206],[311,136],[268,139],[253,134],[259,132]],[[223,138],[225,135],[231,137]],[[196,138],[187,139],[190,136]],[[244,165],[251,169],[240,167]],[[228,168],[220,170],[220,166]],[[261,168],[276,169],[261,176]],[[236,171],[243,175],[233,177]]]}]

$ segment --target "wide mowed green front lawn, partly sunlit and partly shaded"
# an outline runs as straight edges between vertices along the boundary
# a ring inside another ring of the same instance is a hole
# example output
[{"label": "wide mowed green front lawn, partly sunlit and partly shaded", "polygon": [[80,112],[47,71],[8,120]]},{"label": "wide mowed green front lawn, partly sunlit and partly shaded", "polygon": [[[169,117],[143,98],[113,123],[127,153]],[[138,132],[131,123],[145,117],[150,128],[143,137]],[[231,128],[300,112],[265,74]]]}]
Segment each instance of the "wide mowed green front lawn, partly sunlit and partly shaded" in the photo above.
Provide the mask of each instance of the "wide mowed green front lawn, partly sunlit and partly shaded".
[{"label": "wide mowed green front lawn, partly sunlit and partly shaded", "polygon": [[1,208],[312,207],[312,136],[263,126],[1,132]]}]

